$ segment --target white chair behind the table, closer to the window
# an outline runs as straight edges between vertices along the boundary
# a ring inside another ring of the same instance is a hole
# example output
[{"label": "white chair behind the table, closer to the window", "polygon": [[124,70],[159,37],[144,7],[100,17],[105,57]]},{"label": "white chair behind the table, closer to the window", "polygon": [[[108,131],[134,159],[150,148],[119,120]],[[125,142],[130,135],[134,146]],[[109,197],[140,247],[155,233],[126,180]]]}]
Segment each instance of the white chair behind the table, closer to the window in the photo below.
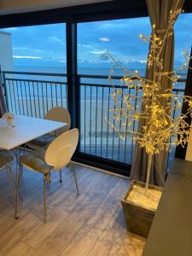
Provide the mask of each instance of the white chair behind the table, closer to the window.
[{"label": "white chair behind the table, closer to the window", "polygon": [[61,133],[64,133],[70,129],[71,118],[67,108],[61,108],[61,107],[51,108],[46,113],[44,119],[58,121],[61,123],[67,123],[67,125],[57,131],[50,132],[48,134],[45,134],[42,137],[38,137],[37,139],[34,139],[31,142],[27,143],[27,146],[29,148],[40,149],[40,148],[47,147],[49,143],[51,143],[55,139],[55,137],[59,136]]}]

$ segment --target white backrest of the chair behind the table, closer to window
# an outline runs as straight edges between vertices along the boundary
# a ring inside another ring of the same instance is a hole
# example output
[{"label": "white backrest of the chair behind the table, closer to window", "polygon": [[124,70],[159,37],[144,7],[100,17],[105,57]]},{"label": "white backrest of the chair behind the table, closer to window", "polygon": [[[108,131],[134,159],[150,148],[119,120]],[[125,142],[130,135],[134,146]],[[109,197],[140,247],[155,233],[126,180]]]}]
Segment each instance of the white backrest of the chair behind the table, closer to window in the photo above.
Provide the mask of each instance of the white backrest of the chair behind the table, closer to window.
[{"label": "white backrest of the chair behind the table, closer to window", "polygon": [[[71,126],[71,118],[70,118],[70,114],[68,113],[67,108],[62,108],[62,107],[51,108],[46,113],[44,119],[58,121],[61,123],[67,123],[67,125],[65,125],[65,127],[61,128],[58,131],[59,134],[68,131]],[[56,136],[59,134],[56,134]]]}]

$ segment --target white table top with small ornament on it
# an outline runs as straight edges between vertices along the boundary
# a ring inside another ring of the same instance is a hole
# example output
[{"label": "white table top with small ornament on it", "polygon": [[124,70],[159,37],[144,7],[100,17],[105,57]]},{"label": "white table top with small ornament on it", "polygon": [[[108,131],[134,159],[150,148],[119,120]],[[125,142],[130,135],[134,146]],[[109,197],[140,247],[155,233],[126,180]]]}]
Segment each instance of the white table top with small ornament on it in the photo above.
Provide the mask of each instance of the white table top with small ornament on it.
[{"label": "white table top with small ornament on it", "polygon": [[15,115],[15,127],[9,128],[6,120],[0,119],[0,148],[11,150],[65,125],[48,119]]}]

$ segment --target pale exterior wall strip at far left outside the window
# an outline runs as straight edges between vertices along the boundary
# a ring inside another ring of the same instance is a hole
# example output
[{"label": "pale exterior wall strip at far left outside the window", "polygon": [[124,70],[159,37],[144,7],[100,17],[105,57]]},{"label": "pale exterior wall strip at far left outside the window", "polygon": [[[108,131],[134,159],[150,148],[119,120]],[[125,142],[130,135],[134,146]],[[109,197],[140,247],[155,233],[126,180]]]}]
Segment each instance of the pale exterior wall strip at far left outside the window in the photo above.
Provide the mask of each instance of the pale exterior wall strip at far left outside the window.
[{"label": "pale exterior wall strip at far left outside the window", "polygon": [[11,34],[8,32],[0,32],[0,65],[2,70],[14,70]]}]

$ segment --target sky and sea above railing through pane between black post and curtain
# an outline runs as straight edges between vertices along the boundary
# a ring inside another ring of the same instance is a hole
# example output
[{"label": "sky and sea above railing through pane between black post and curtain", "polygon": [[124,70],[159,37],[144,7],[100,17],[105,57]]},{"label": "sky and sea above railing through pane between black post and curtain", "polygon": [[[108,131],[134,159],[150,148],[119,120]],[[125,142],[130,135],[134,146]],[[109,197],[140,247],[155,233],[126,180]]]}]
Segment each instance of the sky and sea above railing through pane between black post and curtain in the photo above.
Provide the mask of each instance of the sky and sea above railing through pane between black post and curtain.
[{"label": "sky and sea above railing through pane between black post and curtain", "polygon": [[[139,34],[150,34],[148,18],[86,22],[78,25],[78,67],[80,74],[109,75],[113,62],[105,50],[125,67],[144,73],[148,44]],[[122,75],[122,70],[115,74]]]}]

